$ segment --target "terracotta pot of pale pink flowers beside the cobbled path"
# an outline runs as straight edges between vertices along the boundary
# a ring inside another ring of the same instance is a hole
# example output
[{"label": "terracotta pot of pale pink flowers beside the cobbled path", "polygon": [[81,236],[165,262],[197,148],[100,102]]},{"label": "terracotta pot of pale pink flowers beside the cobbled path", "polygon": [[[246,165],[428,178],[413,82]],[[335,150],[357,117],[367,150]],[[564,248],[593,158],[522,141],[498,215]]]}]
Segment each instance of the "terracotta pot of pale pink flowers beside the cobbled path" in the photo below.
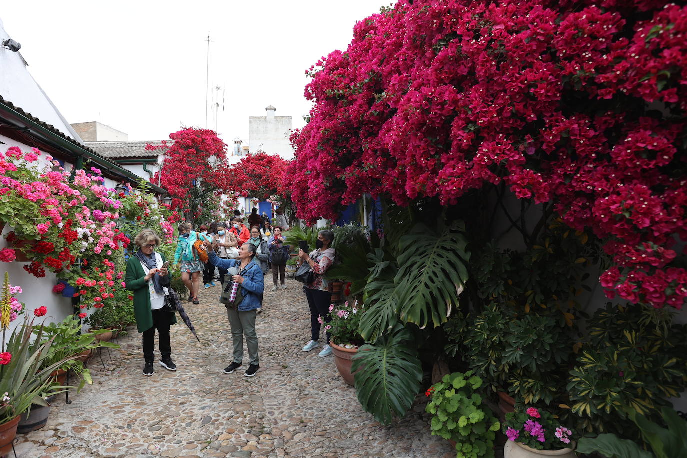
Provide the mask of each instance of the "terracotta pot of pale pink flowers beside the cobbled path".
[{"label": "terracotta pot of pale pink flowers beside the cobbled path", "polygon": [[330,323],[324,323],[322,317],[319,317],[319,322],[325,325],[325,329],[332,334],[330,345],[334,350],[334,362],[339,369],[339,374],[351,386],[355,385],[351,372],[352,359],[357,354],[358,348],[365,343],[358,333],[363,311],[363,304],[359,304],[358,301],[352,305],[346,301],[345,304],[338,306],[332,304],[329,307],[332,317]]}]

